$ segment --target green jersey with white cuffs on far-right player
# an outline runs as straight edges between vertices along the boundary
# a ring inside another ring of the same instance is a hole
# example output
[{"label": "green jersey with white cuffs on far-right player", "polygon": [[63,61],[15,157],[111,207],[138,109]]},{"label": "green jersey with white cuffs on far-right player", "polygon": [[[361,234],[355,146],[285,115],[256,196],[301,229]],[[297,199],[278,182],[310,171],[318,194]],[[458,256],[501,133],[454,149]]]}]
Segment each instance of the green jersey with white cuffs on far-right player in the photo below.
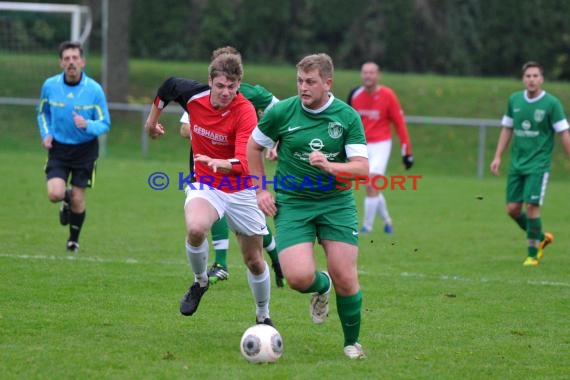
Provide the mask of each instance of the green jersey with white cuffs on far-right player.
[{"label": "green jersey with white cuffs on far-right player", "polygon": [[558,98],[542,92],[529,99],[526,91],[509,98],[501,124],[513,128],[510,172],[532,174],[550,171],[554,135],[568,129]]}]

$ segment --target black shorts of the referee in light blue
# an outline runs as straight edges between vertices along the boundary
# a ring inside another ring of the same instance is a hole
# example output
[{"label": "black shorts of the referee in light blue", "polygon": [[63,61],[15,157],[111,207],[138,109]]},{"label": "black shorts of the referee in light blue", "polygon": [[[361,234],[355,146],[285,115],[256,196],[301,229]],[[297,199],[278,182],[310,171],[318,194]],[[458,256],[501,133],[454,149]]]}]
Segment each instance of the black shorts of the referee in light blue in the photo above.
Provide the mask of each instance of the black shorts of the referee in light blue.
[{"label": "black shorts of the referee in light blue", "polygon": [[91,187],[95,180],[95,166],[99,157],[99,141],[83,144],[62,144],[53,140],[45,167],[46,178],[61,178],[77,187]]}]

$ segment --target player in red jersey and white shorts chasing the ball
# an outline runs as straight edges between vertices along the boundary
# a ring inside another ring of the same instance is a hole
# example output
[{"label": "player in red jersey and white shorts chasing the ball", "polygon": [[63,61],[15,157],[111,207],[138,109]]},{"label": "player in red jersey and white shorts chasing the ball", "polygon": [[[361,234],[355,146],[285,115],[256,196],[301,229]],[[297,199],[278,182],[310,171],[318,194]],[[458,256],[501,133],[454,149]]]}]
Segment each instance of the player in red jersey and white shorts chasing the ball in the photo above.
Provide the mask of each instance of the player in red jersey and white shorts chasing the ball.
[{"label": "player in red jersey and white shorts chasing the ball", "polygon": [[221,49],[223,52],[212,55],[208,85],[170,78],[160,86],[145,128],[152,138],[165,133],[158,119],[171,101],[190,116],[196,181],[187,183],[184,216],[186,254],[194,283],[180,301],[180,313],[194,314],[208,290],[207,235],[214,222],[226,216],[248,268],[256,322],[273,325],[269,317],[270,274],[262,248],[267,234],[265,216],[257,206],[255,190],[241,179],[249,174],[246,147],[257,114],[238,92],[243,76],[241,55],[235,49],[236,53],[227,52],[228,47]]}]

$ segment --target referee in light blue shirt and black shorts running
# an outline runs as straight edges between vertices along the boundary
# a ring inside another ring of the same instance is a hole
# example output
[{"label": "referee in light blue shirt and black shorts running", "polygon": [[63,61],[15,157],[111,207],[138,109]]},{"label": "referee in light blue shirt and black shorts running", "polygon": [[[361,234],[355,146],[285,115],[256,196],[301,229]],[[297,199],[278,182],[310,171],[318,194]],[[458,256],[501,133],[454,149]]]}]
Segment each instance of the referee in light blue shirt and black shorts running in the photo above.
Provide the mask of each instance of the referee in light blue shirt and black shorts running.
[{"label": "referee in light blue shirt and black shorts running", "polygon": [[109,131],[111,119],[101,85],[83,72],[81,44],[63,42],[59,64],[63,72],[42,86],[37,119],[42,145],[48,151],[48,198],[61,201],[59,220],[69,225],[67,250],[77,252],[85,220],[85,189],[93,184],[99,156],[97,137]]}]

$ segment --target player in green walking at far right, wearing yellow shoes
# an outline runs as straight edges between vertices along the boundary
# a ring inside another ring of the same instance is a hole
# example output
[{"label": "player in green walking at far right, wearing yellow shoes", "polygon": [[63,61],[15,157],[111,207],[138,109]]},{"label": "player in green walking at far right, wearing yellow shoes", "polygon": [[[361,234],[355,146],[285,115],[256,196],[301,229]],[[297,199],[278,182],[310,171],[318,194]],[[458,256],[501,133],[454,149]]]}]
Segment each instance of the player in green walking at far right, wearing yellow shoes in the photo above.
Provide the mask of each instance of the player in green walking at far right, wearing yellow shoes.
[{"label": "player in green walking at far right, wearing yellow shoes", "polygon": [[[554,135],[558,134],[570,157],[570,133],[560,101],[542,89],[542,66],[527,62],[522,69],[525,91],[509,98],[491,172],[499,174],[501,156],[511,139],[511,164],[507,176],[507,213],[527,234],[524,266],[536,266],[554,237],[542,231],[540,206],[544,201],[552,161]],[[523,211],[526,203],[526,213]]]}]

